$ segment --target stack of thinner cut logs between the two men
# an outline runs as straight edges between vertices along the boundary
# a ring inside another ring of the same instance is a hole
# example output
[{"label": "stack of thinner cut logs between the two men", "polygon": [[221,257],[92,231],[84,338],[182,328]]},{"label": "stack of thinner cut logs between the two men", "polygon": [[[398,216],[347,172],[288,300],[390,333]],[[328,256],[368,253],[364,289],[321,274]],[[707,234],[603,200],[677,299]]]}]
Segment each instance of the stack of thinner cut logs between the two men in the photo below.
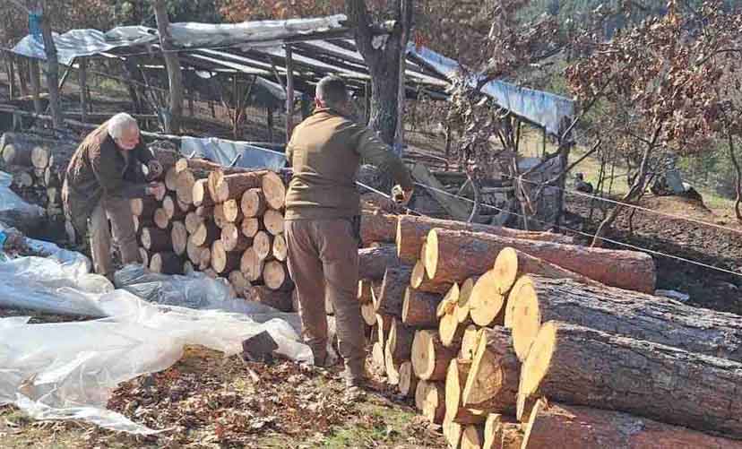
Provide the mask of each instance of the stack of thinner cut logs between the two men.
[{"label": "stack of thinner cut logs between the two men", "polygon": [[291,310],[284,178],[168,151],[155,155],[167,193],[132,200],[142,262],[152,272],[201,271],[229,282],[237,297]]}]

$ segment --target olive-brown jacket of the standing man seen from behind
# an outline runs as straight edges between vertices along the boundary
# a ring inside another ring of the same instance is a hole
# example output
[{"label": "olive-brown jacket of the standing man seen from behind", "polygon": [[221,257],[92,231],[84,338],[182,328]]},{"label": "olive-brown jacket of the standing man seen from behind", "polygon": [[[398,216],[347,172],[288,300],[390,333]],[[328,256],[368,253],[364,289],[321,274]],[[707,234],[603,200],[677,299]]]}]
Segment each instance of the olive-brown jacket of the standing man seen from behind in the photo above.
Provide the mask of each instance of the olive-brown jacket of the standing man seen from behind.
[{"label": "olive-brown jacket of the standing man seen from behind", "polygon": [[408,169],[373,131],[328,108],[317,109],[294,129],[286,158],[294,171],[286,220],[358,215],[355,181],[361,159],[388,172],[403,188],[412,188]]}]

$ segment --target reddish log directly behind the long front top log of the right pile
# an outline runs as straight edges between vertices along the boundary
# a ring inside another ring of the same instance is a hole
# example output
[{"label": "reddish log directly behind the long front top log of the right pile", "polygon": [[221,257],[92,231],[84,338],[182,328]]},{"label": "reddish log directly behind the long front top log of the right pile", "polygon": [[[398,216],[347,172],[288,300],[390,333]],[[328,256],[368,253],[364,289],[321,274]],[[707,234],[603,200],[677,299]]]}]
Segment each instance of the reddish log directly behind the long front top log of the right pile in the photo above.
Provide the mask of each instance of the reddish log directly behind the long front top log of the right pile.
[{"label": "reddish log directly behind the long front top log of the right pile", "polygon": [[[536,241],[571,244],[573,239],[561,234],[550,232],[530,232],[519,229],[502,228],[476,223],[465,223],[455,220],[440,220],[428,217],[416,217],[413,215],[401,215],[396,223],[394,241],[397,244],[397,256],[402,263],[415,263],[420,254],[422,242],[425,241],[430,230],[450,229],[482,232],[502,237],[529,239]],[[482,271],[484,272],[484,270]],[[475,273],[478,274],[478,273]]]}]

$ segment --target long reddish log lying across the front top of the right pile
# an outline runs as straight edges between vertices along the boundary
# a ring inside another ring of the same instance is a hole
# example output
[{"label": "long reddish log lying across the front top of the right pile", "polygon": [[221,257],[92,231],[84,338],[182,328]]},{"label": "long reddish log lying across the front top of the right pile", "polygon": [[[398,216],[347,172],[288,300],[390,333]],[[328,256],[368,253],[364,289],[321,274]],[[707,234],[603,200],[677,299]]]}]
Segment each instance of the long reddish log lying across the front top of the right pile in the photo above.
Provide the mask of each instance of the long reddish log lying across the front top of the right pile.
[{"label": "long reddish log lying across the front top of the right pile", "polygon": [[427,275],[438,282],[463,281],[490,270],[507,246],[612,287],[654,291],[654,261],[645,253],[445,229],[431,229],[427,236]]}]

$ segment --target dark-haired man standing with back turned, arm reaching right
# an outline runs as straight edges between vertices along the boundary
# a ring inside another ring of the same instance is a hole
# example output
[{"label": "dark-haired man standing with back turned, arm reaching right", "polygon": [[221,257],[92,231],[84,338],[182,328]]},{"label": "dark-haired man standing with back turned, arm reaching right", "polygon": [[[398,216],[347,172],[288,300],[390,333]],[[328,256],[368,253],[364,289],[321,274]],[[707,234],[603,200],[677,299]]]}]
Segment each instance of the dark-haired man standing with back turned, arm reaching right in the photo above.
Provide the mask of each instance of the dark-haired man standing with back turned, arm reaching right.
[{"label": "dark-haired man standing with back turned, arm reaching right", "polygon": [[315,365],[327,364],[325,296],[335,310],[346,384],[366,380],[365,336],[358,305],[360,198],[355,184],[360,160],[399,183],[402,202],[412,194],[402,161],[365,126],[349,119],[345,83],[332,76],[316,87],[315,112],[294,130],[286,156],[293,177],[286,195],[289,272],[296,283],[307,344]]}]

